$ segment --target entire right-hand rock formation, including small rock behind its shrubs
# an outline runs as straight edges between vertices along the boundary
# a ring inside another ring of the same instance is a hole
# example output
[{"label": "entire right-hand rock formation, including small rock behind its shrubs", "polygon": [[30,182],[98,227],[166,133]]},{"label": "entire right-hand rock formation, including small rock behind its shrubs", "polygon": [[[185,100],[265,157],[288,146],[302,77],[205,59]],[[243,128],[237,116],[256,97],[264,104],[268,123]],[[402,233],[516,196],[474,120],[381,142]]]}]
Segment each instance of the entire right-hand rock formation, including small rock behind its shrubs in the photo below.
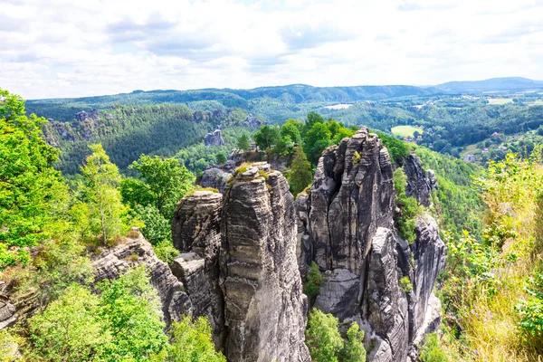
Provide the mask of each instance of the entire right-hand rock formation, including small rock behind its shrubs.
[{"label": "entire right-hand rock formation, including small rock behind its shrubs", "polygon": [[[362,323],[367,347],[373,346],[369,361],[405,362],[416,358],[415,341],[435,326],[432,290],[446,248],[429,216],[418,221],[412,245],[395,232],[392,168],[386,148],[366,128],[325,150],[310,195],[296,202],[297,256],[302,273],[310,262],[324,271],[315,307]],[[435,182],[418,157],[405,161],[405,175],[411,195],[430,205]],[[400,283],[405,277],[413,290]]]}]

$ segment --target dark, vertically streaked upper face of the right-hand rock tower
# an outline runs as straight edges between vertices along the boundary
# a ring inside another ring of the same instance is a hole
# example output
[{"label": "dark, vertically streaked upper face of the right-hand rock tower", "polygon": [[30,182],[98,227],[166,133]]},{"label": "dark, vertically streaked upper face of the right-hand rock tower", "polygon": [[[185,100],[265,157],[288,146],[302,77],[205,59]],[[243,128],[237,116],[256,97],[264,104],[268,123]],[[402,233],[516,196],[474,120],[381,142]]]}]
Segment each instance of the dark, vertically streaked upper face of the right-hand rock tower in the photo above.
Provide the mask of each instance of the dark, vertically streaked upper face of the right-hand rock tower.
[{"label": "dark, vertically streaked upper face of the right-hand rock tower", "polygon": [[360,274],[372,236],[392,226],[394,186],[388,153],[361,129],[324,151],[311,186],[309,234],[322,270]]}]

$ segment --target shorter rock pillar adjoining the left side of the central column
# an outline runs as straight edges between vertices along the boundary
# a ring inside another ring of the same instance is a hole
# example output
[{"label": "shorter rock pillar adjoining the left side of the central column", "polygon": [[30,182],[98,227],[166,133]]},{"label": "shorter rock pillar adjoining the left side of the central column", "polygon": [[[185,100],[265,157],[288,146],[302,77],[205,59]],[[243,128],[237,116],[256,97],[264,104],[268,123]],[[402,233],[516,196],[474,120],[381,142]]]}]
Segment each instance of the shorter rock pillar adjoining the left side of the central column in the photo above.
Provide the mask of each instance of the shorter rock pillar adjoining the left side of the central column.
[{"label": "shorter rock pillar adjoining the left side of the central column", "polygon": [[219,287],[219,252],[223,195],[196,191],[176,207],[172,236],[181,256],[172,271],[192,300],[194,316],[209,319],[217,347],[223,346],[224,301]]}]

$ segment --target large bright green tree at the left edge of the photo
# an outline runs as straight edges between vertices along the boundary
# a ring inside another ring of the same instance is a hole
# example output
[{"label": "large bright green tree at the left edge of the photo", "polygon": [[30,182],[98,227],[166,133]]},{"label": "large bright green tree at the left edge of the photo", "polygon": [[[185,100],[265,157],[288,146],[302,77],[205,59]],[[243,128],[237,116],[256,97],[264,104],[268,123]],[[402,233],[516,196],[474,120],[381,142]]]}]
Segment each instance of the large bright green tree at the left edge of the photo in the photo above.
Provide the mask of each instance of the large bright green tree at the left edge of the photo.
[{"label": "large bright green tree at the left edge of the photo", "polygon": [[26,247],[52,235],[67,197],[52,168],[58,151],[42,138],[44,122],[26,117],[24,101],[0,89],[0,270],[29,262]]}]

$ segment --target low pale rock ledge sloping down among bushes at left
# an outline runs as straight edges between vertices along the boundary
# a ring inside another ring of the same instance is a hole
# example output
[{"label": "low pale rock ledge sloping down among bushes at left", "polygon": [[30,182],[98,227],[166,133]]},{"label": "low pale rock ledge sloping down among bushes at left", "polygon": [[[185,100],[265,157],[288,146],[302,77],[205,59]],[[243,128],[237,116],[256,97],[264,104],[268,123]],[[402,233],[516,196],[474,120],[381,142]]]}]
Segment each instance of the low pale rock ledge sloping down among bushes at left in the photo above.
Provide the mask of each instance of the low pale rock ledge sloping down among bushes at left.
[{"label": "low pale rock ledge sloping down among bushes at left", "polygon": [[167,325],[183,315],[192,315],[192,302],[184,291],[183,283],[177,280],[166,262],[157,258],[153,247],[141,233],[135,229],[132,233],[137,237],[127,238],[123,243],[92,256],[95,281],[115,280],[129,268],[143,264],[149,271],[151,284],[157,289]]}]

